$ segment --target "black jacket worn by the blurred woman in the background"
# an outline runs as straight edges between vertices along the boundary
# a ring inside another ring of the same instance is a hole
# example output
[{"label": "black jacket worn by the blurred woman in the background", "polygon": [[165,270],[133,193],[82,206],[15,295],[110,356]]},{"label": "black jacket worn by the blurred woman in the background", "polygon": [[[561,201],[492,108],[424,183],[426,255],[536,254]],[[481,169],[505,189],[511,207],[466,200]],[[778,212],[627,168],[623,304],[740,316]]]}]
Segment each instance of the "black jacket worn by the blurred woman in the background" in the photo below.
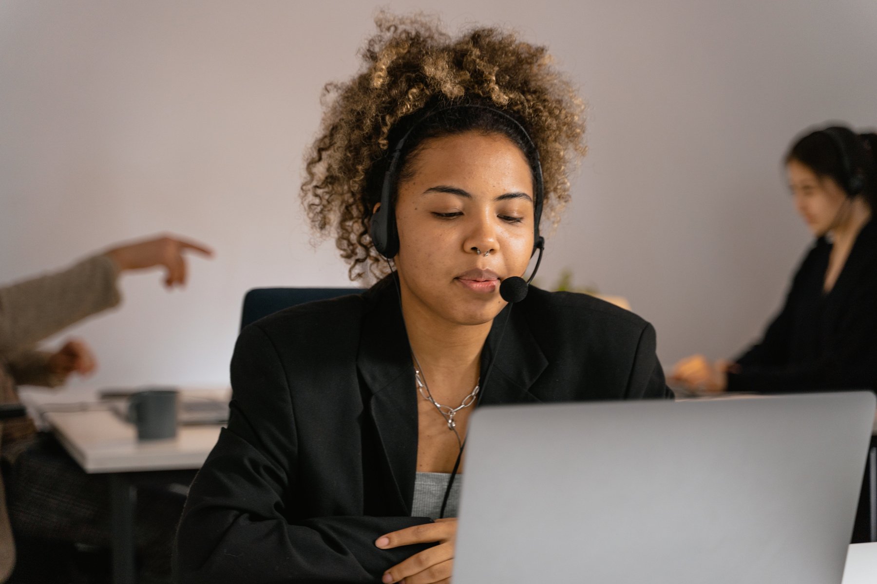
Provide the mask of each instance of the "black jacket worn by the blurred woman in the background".
[{"label": "black jacket worn by the blurred woman in the background", "polygon": [[729,391],[877,388],[877,223],[859,231],[825,294],[830,255],[831,243],[817,239],[764,338],[736,359]]}]

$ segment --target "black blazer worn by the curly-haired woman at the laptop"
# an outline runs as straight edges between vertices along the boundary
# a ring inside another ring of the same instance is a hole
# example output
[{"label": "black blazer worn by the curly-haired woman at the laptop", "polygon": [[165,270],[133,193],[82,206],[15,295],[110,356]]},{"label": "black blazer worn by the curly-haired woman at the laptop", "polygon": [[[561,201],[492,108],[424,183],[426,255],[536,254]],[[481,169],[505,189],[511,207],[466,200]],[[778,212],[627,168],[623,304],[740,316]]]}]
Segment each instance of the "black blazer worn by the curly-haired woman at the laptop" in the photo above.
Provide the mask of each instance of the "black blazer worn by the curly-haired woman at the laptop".
[{"label": "black blazer worn by the curly-haired woman at the laptop", "polygon": [[[665,398],[645,320],[582,294],[530,289],[494,320],[480,405]],[[289,308],[246,327],[232,414],[177,533],[182,582],[375,582],[429,545],[380,550],[410,517],[417,391],[389,278],[362,296]]]}]

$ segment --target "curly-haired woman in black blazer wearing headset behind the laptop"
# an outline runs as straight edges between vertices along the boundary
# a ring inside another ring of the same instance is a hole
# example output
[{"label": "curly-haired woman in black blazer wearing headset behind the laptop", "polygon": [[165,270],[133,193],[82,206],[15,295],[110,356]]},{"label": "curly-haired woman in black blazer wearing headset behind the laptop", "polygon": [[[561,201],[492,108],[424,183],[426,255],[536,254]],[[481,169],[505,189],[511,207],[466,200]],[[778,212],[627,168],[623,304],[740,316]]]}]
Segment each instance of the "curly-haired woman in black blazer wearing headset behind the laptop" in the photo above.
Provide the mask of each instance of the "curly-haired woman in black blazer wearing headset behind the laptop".
[{"label": "curly-haired woman in black blazer wearing headset behind the laptop", "polygon": [[447,582],[475,405],[667,396],[645,320],[520,278],[585,151],[545,48],[377,24],[360,74],[326,86],[302,196],[351,277],[380,281],[240,334],[182,582]]}]

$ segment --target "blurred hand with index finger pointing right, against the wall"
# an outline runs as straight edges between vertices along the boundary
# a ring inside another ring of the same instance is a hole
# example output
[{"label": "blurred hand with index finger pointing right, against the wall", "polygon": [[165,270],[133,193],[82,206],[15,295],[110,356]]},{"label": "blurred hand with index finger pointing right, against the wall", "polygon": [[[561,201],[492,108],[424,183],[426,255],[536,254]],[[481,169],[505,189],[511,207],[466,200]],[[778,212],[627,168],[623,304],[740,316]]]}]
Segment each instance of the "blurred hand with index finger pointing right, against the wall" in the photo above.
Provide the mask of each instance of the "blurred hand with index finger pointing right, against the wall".
[{"label": "blurred hand with index finger pointing right, against the wall", "polygon": [[200,243],[193,243],[172,236],[156,237],[144,242],[129,243],[106,252],[119,271],[145,270],[156,265],[165,267],[165,285],[186,283],[186,260],[182,252],[192,250],[210,257],[213,251]]}]

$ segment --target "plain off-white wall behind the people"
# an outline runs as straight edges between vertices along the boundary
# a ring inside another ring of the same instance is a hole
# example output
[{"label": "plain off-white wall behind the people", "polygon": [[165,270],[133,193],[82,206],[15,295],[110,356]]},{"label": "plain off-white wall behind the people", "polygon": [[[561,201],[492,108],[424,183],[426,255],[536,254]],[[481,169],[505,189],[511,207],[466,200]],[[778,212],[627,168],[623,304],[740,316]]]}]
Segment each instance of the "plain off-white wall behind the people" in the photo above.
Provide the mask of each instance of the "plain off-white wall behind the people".
[{"label": "plain off-white wall behind the people", "polygon": [[[358,67],[374,10],[0,3],[0,282],[160,230],[217,250],[193,260],[186,291],[125,277],[124,307],[63,334],[96,349],[84,383],[223,383],[248,288],[346,285],[333,244],[309,246],[297,186],[320,88]],[[827,119],[877,123],[877,3],[439,10],[454,29],[509,25],[549,45],[590,103],[591,153],[540,280],[569,268],[626,296],[667,367],[758,334],[809,243],[781,178],[789,140]]]}]

